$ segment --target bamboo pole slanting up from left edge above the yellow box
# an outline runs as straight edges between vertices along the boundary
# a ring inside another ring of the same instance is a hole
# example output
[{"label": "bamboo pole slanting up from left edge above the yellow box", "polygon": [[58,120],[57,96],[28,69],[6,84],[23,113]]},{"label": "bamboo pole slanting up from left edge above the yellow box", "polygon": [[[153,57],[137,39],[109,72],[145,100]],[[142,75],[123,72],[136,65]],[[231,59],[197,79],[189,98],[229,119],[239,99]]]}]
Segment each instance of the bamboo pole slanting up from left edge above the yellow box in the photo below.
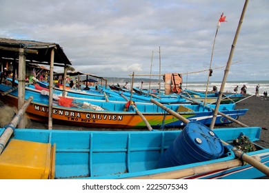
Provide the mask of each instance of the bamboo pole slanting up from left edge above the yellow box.
[{"label": "bamboo pole slanting up from left edge above the yellow box", "polygon": [[30,105],[32,99],[33,99],[32,96],[30,96],[27,99],[27,101],[21,107],[19,112],[13,117],[12,121],[8,124],[8,127],[1,135],[1,137],[0,137],[0,154],[3,152],[3,149],[6,147],[6,144],[8,143],[8,140],[10,139],[10,136],[12,135],[14,128],[16,128],[19,121],[21,121],[21,118],[23,117],[23,114],[26,112],[26,109]]}]

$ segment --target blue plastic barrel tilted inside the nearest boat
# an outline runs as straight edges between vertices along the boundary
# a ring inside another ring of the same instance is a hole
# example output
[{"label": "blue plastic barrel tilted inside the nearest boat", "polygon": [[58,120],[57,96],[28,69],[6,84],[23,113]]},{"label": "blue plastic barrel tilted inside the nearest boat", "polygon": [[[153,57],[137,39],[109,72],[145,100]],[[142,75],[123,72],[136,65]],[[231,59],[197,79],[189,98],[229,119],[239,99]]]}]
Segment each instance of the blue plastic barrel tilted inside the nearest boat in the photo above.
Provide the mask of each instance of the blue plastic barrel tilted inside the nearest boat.
[{"label": "blue plastic barrel tilted inside the nearest boat", "polygon": [[217,159],[223,151],[221,140],[210,128],[197,121],[191,121],[163,153],[159,167]]}]

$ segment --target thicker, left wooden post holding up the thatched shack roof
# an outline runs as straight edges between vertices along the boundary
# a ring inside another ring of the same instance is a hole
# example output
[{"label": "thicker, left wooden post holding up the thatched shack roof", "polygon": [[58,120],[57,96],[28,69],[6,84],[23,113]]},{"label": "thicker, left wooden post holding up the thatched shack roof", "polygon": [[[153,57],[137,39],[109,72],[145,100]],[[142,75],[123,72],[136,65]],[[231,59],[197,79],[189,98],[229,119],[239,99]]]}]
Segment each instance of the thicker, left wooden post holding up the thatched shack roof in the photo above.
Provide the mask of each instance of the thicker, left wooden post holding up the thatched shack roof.
[{"label": "thicker, left wooden post holding up the thatched shack roof", "polygon": [[[14,66],[13,66],[14,68]],[[19,48],[19,77],[18,77],[18,109],[24,104],[26,95],[26,55],[23,48]],[[26,123],[21,119],[19,128],[25,128]]]}]

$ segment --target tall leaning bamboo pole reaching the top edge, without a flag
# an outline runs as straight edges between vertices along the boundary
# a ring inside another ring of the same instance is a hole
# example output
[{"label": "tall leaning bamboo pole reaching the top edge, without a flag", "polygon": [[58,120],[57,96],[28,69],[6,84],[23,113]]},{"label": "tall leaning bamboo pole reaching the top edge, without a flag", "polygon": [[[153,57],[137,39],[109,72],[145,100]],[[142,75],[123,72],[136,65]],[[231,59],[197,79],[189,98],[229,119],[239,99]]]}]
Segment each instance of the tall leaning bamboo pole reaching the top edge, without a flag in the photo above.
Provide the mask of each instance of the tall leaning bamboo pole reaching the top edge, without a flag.
[{"label": "tall leaning bamboo pole reaching the top edge, without a flag", "polygon": [[229,59],[228,59],[227,65],[226,65],[226,70],[224,70],[224,76],[223,76],[223,80],[222,80],[222,83],[221,83],[221,88],[219,90],[219,97],[217,99],[217,104],[216,104],[216,108],[215,108],[215,111],[214,111],[214,115],[213,115],[213,118],[212,118],[212,121],[211,121],[211,124],[210,124],[210,129],[214,128],[215,121],[217,119],[217,112],[219,111],[219,105],[221,103],[222,93],[223,93],[223,90],[224,90],[224,87],[225,87],[226,79],[228,77],[228,72],[230,70],[230,64],[232,62],[232,56],[234,54],[235,45],[237,43],[237,37],[238,37],[239,31],[241,29],[241,24],[243,23],[243,17],[245,15],[247,6],[248,6],[248,0],[245,1],[245,4],[243,6],[243,10],[242,10],[241,17],[240,17],[240,20],[239,20],[239,24],[238,24],[238,27],[237,27],[237,32],[235,33],[235,38],[234,38],[234,41],[232,43]]}]

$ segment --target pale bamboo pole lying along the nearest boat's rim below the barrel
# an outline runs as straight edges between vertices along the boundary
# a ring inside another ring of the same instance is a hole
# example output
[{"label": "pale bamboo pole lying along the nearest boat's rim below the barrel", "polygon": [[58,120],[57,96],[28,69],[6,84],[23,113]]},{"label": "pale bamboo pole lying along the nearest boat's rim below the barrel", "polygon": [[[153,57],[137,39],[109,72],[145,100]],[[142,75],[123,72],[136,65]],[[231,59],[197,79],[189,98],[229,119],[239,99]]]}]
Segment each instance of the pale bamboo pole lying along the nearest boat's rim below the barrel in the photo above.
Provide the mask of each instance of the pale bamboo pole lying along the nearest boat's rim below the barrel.
[{"label": "pale bamboo pole lying along the nearest boat's rim below the barrel", "polygon": [[[259,156],[252,156],[253,159],[260,161]],[[232,159],[229,161],[221,161],[219,163],[208,163],[205,165],[199,165],[195,167],[185,168],[181,170],[173,170],[169,172],[161,172],[159,174],[148,174],[145,176],[130,177],[126,179],[182,179],[188,176],[194,176],[199,174],[206,174],[215,172],[218,170],[227,170],[232,167],[238,167],[242,165],[242,161],[239,159]]]}]

